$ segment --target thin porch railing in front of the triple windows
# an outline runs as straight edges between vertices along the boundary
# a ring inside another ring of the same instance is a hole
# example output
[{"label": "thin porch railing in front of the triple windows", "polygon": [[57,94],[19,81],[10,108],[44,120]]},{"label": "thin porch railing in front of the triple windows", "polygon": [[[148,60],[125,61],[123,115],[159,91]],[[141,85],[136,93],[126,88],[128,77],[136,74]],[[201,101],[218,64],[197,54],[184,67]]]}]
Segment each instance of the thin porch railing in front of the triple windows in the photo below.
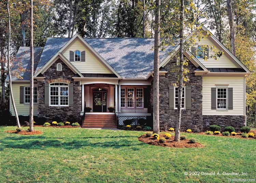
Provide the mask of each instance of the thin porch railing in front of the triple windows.
[{"label": "thin porch railing in front of the triple windows", "polygon": [[123,102],[121,103],[121,111],[147,112],[147,107],[144,107],[144,102]]}]

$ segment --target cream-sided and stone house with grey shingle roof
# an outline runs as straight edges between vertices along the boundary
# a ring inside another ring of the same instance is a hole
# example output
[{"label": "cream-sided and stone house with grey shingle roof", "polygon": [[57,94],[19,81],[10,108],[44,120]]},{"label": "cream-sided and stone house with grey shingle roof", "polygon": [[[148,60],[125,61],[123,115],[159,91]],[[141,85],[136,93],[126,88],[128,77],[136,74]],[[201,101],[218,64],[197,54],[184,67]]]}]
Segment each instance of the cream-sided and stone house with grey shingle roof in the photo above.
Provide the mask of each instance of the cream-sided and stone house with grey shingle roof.
[{"label": "cream-sided and stone house with grey shingle roof", "polygon": [[[205,27],[202,29],[207,32]],[[199,47],[184,53],[189,60],[189,81],[184,83],[182,122],[184,129],[207,130],[210,125],[246,126],[245,78],[250,71],[214,35],[196,39]],[[215,46],[224,54],[202,54],[200,45]],[[81,120],[83,127],[113,127],[125,119],[152,116],[154,39],[152,38],[48,38],[43,48],[34,48],[34,115],[52,121]],[[160,128],[175,127],[177,115],[179,45],[160,52]],[[194,54],[194,56],[193,56]],[[203,60],[207,56],[208,60]],[[29,70],[30,49],[16,55]],[[13,77],[18,115],[29,115],[29,71]],[[113,112],[109,106],[115,107]],[[91,107],[86,112],[86,107]],[[13,107],[10,106],[14,115]],[[134,121],[133,124],[135,124]]]}]

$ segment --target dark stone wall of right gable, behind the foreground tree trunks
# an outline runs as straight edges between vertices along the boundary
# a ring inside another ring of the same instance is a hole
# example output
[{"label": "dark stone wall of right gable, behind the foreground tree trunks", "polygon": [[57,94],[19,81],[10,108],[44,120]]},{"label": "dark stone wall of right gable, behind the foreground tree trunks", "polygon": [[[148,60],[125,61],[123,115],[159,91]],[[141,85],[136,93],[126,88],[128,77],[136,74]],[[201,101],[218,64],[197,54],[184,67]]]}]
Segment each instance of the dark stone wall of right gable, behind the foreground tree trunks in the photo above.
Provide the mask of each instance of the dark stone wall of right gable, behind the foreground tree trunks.
[{"label": "dark stone wall of right gable, behind the foreground tree trunks", "polygon": [[[166,76],[159,77],[159,120],[160,129],[175,128],[177,110],[169,109],[169,86],[177,81],[177,73],[171,72],[176,65],[176,60],[171,60],[164,67],[168,73]],[[191,86],[191,109],[182,110],[181,129],[192,129],[202,131],[202,77],[195,76],[193,73],[197,68],[191,63],[186,66],[189,69],[189,81],[185,85]],[[153,81],[151,87],[153,94]],[[150,102],[153,104],[153,95],[150,96]]]}]

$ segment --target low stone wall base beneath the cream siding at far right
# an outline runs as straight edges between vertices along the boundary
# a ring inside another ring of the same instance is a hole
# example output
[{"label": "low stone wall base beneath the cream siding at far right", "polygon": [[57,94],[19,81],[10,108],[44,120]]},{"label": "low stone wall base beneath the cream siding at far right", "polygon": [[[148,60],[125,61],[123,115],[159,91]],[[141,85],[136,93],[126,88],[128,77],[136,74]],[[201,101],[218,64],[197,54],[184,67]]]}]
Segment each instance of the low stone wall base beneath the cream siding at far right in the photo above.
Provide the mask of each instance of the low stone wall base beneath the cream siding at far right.
[{"label": "low stone wall base beneath the cream siding at far right", "polygon": [[221,130],[227,126],[232,126],[236,131],[240,131],[240,128],[245,126],[245,120],[245,116],[203,115],[203,131],[209,130],[210,125],[221,126]]}]

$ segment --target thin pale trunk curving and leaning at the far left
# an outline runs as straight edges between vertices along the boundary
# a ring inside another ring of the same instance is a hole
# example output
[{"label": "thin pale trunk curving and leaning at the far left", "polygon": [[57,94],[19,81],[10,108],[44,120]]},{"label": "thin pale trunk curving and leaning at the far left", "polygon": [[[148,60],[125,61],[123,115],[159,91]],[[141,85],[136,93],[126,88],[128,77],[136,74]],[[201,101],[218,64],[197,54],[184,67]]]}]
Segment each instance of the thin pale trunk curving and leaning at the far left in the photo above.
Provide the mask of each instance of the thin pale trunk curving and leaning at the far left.
[{"label": "thin pale trunk curving and leaning at the far left", "polygon": [[10,21],[10,11],[9,11],[9,0],[7,2],[7,12],[8,12],[8,25],[9,25],[9,32],[8,32],[8,50],[7,50],[7,67],[8,67],[8,74],[9,74],[9,87],[10,87],[10,96],[12,100],[13,110],[15,113],[16,121],[17,121],[17,127],[20,128],[19,124],[19,117],[16,110],[14,98],[13,98],[13,92],[12,92],[12,75],[11,75],[11,69],[10,69],[10,41],[11,41],[11,21]]}]

